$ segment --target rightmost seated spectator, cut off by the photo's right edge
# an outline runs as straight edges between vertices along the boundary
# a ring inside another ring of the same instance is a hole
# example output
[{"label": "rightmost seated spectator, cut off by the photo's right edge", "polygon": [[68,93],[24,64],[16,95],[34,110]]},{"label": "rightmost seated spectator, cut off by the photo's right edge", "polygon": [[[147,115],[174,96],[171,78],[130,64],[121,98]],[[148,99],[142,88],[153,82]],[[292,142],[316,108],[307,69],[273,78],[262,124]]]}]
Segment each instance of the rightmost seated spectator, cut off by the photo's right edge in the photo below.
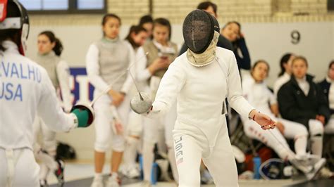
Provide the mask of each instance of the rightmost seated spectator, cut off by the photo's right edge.
[{"label": "rightmost seated spectator, cut off by the photo's right edge", "polygon": [[330,120],[326,124],[325,132],[334,134],[334,60],[329,63],[327,77],[319,85],[328,98],[330,108]]}]

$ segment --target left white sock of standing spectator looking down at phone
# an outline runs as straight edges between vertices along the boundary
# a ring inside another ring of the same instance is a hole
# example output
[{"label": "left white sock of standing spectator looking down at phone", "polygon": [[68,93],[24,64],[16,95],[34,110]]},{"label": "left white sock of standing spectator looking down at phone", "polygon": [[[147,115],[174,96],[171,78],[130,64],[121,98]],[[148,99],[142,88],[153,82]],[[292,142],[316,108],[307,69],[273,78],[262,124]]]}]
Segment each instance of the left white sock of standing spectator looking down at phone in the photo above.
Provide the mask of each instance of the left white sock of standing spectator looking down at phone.
[{"label": "left white sock of standing spectator looking down at phone", "polygon": [[154,143],[145,142],[142,148],[144,181],[151,181],[151,169],[154,162]]}]

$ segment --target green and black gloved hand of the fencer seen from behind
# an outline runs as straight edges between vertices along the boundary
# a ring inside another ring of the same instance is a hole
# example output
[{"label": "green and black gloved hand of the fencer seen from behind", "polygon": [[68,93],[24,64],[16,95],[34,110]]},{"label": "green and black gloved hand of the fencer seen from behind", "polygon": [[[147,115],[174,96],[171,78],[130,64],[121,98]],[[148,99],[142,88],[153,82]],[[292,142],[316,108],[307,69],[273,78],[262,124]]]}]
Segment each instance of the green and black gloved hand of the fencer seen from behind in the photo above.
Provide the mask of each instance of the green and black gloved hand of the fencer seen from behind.
[{"label": "green and black gloved hand of the fencer seen from behind", "polygon": [[93,108],[85,104],[73,106],[70,112],[78,118],[78,127],[89,127],[95,118]]}]

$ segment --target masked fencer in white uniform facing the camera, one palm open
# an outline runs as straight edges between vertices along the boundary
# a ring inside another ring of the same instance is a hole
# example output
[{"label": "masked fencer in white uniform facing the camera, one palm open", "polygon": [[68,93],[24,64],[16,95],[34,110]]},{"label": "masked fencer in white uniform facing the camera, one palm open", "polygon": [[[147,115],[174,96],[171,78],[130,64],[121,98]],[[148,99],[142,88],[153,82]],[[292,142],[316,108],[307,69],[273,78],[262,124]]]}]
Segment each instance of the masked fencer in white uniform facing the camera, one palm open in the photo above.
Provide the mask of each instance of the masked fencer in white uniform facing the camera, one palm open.
[{"label": "masked fencer in white uniform facing the camera, one palm open", "polygon": [[[200,28],[200,29],[198,29]],[[243,117],[273,129],[276,122],[254,110],[242,97],[233,51],[216,47],[217,20],[195,10],[183,22],[188,51],[176,58],[161,79],[147,117],[163,115],[177,101],[173,130],[179,186],[200,186],[201,159],[216,186],[238,186],[237,167],[225,121],[225,98]]]}]

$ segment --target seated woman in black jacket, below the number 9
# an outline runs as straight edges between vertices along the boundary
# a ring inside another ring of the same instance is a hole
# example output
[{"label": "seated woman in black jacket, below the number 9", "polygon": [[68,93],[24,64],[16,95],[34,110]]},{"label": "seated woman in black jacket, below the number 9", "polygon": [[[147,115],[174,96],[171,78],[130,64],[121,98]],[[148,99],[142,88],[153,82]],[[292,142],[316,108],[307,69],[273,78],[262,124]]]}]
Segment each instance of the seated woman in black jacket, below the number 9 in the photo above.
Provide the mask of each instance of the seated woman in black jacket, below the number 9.
[{"label": "seated woman in black jacket, below the number 9", "polygon": [[309,129],[311,152],[318,157],[323,150],[323,126],[330,118],[326,96],[307,74],[307,59],[292,60],[292,76],[278,91],[280,115],[284,119],[304,124]]}]

